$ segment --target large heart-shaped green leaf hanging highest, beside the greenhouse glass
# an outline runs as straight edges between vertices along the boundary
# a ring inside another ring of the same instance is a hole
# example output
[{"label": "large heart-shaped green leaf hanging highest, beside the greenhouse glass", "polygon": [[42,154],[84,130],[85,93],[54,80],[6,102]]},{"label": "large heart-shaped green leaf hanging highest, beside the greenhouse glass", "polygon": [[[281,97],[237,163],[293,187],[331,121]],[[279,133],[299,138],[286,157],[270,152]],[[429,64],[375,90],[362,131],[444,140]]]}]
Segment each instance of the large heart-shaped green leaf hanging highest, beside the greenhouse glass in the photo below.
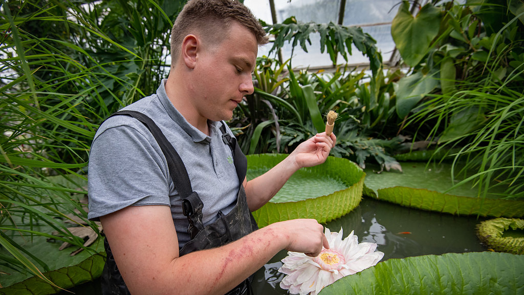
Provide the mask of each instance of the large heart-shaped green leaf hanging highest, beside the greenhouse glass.
[{"label": "large heart-shaped green leaf hanging highest, beside the greenhouse glass", "polygon": [[411,67],[418,65],[439,33],[440,10],[428,3],[413,17],[408,1],[403,1],[391,23],[391,36],[402,59]]}]

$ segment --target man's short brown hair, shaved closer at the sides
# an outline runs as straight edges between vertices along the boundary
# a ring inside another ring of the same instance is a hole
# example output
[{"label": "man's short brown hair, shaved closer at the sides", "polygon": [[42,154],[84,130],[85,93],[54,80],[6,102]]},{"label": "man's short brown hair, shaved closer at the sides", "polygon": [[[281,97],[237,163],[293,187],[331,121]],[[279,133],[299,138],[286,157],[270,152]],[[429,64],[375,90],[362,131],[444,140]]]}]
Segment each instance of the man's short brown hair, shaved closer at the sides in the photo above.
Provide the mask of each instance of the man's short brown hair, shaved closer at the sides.
[{"label": "man's short brown hair, shaved closer at the sides", "polygon": [[171,65],[178,59],[185,36],[199,33],[215,44],[227,36],[232,22],[252,32],[258,45],[268,43],[266,31],[249,8],[236,0],[190,0],[174,21],[171,30]]}]

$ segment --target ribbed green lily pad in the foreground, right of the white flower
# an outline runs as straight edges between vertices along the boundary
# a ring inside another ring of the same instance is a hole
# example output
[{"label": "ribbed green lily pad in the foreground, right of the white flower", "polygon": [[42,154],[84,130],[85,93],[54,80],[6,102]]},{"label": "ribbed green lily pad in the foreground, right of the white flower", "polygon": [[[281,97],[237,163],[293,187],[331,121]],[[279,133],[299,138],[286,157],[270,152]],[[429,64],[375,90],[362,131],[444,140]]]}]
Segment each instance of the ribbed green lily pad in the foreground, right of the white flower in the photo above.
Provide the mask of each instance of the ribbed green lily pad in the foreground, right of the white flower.
[{"label": "ribbed green lily pad in the foreground, right of the white flower", "polygon": [[330,294],[524,294],[524,255],[469,252],[389,259],[326,286]]}]

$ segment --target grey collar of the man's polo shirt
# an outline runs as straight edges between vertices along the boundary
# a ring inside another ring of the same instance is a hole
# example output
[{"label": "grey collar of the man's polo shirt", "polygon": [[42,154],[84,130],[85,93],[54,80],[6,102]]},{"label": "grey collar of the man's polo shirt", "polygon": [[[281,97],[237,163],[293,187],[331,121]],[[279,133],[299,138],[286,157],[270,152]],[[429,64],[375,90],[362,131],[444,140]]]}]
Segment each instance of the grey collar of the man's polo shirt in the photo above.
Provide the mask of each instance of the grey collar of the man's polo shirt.
[{"label": "grey collar of the man's polo shirt", "polygon": [[[191,125],[185,118],[182,116],[182,114],[173,106],[171,101],[169,100],[167,93],[166,93],[166,81],[167,79],[162,79],[162,82],[160,83],[160,86],[157,89],[157,96],[160,100],[160,103],[162,103],[162,106],[167,110],[167,113],[169,114],[169,117],[177,123],[182,130],[184,130],[194,142],[211,142],[211,137],[206,135],[204,132],[196,129],[193,125]],[[219,129],[219,122],[208,120],[208,124],[213,131],[216,132],[217,129]]]}]

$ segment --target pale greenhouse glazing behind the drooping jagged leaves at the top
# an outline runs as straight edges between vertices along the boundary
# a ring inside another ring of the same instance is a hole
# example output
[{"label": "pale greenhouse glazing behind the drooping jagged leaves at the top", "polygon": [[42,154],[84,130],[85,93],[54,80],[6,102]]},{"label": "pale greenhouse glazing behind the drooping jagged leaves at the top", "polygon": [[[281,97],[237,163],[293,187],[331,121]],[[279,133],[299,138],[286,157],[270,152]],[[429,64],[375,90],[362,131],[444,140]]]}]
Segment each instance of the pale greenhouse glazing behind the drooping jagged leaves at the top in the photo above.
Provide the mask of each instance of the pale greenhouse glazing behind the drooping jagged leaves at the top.
[{"label": "pale greenhouse glazing behind the drooping jagged leaves at the top", "polygon": [[[271,24],[271,13],[269,1],[245,0],[244,4],[249,7],[253,14]],[[371,35],[377,41],[377,48],[383,56],[383,60],[389,60],[395,43],[391,38],[391,20],[398,10],[398,0],[347,0],[344,13],[344,26],[364,25],[363,31]],[[277,21],[280,23],[290,16],[295,16],[299,22],[315,23],[337,23],[339,17],[340,0],[275,0]],[[385,23],[385,24],[384,24]],[[377,25],[373,25],[377,24]],[[320,53],[320,35],[312,34],[311,45],[307,44],[309,52],[304,52],[299,45],[294,48],[293,67],[330,67],[332,61],[324,51]],[[258,50],[258,56],[268,55],[272,44],[262,46]],[[356,47],[352,47],[352,54],[348,56],[348,64],[368,64],[369,59],[362,55]],[[274,53],[271,55],[275,57]],[[285,44],[282,48],[282,57],[287,60],[291,57],[291,45]],[[339,55],[337,63],[344,63],[344,58]]]}]

